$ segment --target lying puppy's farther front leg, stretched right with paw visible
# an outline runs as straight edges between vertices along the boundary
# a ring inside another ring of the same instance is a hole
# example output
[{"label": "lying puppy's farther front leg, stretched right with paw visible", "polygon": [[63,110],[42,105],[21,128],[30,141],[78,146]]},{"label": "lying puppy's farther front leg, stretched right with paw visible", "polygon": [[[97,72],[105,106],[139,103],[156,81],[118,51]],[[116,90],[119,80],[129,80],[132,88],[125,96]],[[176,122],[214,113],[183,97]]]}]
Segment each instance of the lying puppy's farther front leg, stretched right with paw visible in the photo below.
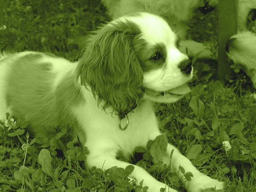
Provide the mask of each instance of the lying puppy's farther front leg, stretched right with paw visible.
[{"label": "lying puppy's farther front leg, stretched right with paw visible", "polygon": [[[203,189],[207,188],[215,188],[216,189],[222,189],[223,188],[223,182],[220,182],[218,180],[212,179],[203,173],[200,173],[195,166],[192,165],[191,161],[184,157],[180,151],[176,147],[174,147],[171,144],[168,144],[167,151],[165,155],[163,156],[163,163],[166,165],[169,165],[170,163],[170,155],[173,150],[172,154],[172,162],[171,162],[171,171],[176,172],[178,171],[178,167],[182,166],[185,169],[185,172],[191,172],[193,174],[193,177],[191,177],[191,181],[187,181],[184,177],[184,175],[179,171],[179,177],[182,179],[182,181],[185,184],[185,187],[189,192],[200,192]],[[153,160],[154,161],[154,160]]]}]

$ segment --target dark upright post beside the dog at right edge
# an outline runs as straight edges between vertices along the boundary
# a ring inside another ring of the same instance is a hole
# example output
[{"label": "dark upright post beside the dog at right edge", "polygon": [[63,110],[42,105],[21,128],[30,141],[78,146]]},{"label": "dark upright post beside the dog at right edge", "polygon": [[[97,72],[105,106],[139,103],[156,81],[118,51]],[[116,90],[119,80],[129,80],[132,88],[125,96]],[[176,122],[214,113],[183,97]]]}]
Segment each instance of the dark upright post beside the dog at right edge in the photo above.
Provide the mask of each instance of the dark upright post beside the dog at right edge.
[{"label": "dark upright post beside the dog at right edge", "polygon": [[225,50],[226,42],[237,33],[238,0],[219,0],[218,76],[226,80],[231,75],[230,64]]}]

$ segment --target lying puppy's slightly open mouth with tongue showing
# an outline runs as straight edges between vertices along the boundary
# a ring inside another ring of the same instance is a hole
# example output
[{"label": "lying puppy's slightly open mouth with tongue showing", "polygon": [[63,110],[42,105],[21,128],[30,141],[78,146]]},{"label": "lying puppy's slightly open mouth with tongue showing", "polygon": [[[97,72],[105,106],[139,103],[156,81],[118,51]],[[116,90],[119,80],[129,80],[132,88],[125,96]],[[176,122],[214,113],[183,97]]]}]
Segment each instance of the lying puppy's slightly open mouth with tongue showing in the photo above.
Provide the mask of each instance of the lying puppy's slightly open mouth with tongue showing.
[{"label": "lying puppy's slightly open mouth with tongue showing", "polygon": [[145,93],[153,96],[153,97],[168,97],[168,96],[183,96],[190,92],[190,88],[187,86],[187,84],[183,84],[182,86],[176,87],[174,89],[169,89],[167,91],[155,91],[152,89],[145,89]]}]

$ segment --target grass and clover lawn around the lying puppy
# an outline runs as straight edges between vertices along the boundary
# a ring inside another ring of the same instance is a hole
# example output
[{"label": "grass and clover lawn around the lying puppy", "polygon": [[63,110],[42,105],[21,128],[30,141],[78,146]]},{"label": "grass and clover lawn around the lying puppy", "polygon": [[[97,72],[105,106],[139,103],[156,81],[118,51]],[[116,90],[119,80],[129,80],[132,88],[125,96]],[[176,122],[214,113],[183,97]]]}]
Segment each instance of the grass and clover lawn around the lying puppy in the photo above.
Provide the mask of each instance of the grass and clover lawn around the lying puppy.
[{"label": "grass and clover lawn around the lying puppy", "polygon": [[[77,60],[82,53],[81,42],[89,31],[109,20],[105,12],[99,0],[5,1],[7,28],[0,30],[0,49],[52,52]],[[216,18],[216,12],[206,16],[196,12],[188,36],[216,44]],[[215,47],[209,46],[214,54]],[[224,181],[225,192],[255,192],[256,102],[250,97],[253,91],[250,80],[236,69],[235,78],[225,84],[218,81],[217,63],[212,60],[196,61],[194,68],[191,94],[172,105],[156,105],[159,127],[168,142],[187,155],[201,172]],[[128,177],[132,167],[113,167],[104,172],[101,167],[88,170],[84,162],[89,153],[86,147],[71,142],[63,147],[61,138],[65,129],[52,138],[31,138],[25,129],[26,122],[15,120],[16,124],[9,118],[7,126],[0,123],[1,192],[147,189]],[[230,142],[229,151],[222,146],[223,141]],[[135,151],[130,162],[143,167],[159,181],[184,191],[177,173],[168,172],[161,162],[153,165],[151,159],[156,153],[150,145],[147,149],[137,147]]]}]

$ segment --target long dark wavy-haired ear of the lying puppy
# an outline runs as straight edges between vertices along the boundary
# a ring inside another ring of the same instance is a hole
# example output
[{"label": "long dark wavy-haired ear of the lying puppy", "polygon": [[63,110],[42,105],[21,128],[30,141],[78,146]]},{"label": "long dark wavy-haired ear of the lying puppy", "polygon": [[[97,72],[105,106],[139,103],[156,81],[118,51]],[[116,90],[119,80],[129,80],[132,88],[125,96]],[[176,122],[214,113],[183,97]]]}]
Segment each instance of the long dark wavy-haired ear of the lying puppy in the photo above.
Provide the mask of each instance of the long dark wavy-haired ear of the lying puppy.
[{"label": "long dark wavy-haired ear of the lying puppy", "polygon": [[109,23],[97,30],[77,67],[84,86],[89,85],[103,109],[112,106],[118,114],[132,111],[143,97],[143,71],[133,49],[140,33],[134,23]]}]

